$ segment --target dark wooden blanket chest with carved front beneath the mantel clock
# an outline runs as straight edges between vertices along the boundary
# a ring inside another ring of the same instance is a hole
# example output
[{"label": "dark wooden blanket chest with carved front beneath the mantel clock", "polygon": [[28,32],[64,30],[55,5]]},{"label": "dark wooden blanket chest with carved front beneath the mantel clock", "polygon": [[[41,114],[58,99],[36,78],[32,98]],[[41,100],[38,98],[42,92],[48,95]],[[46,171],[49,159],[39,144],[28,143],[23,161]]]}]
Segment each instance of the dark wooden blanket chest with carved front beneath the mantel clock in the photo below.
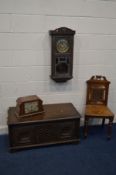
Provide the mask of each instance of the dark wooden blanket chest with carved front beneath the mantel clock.
[{"label": "dark wooden blanket chest with carved front beneath the mantel clock", "polygon": [[44,113],[17,118],[16,107],[8,110],[10,151],[79,142],[80,114],[72,103],[46,104]]}]

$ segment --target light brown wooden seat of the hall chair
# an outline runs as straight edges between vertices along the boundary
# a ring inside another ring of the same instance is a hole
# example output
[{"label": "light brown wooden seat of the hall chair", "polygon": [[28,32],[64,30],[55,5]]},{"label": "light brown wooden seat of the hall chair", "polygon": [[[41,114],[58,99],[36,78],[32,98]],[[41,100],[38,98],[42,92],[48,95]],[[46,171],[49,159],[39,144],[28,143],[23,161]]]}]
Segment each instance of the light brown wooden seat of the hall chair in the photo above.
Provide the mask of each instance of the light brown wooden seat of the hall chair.
[{"label": "light brown wooden seat of the hall chair", "polygon": [[109,118],[113,117],[114,114],[105,105],[86,105],[85,116],[93,118]]}]

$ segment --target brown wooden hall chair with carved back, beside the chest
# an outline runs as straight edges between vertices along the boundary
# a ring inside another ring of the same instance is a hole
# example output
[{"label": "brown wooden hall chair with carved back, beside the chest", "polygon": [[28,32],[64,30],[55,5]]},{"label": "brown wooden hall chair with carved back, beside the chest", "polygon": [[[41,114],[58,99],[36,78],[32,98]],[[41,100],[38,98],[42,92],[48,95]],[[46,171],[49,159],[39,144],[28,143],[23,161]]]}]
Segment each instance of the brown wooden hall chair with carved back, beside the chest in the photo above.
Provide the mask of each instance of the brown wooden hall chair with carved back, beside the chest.
[{"label": "brown wooden hall chair with carved back, beside the chest", "polygon": [[110,81],[105,76],[92,76],[87,83],[86,106],[84,115],[84,137],[88,135],[89,119],[102,119],[102,126],[104,126],[105,119],[107,123],[107,138],[110,139],[112,135],[112,123],[114,114],[107,106],[108,90]]}]

